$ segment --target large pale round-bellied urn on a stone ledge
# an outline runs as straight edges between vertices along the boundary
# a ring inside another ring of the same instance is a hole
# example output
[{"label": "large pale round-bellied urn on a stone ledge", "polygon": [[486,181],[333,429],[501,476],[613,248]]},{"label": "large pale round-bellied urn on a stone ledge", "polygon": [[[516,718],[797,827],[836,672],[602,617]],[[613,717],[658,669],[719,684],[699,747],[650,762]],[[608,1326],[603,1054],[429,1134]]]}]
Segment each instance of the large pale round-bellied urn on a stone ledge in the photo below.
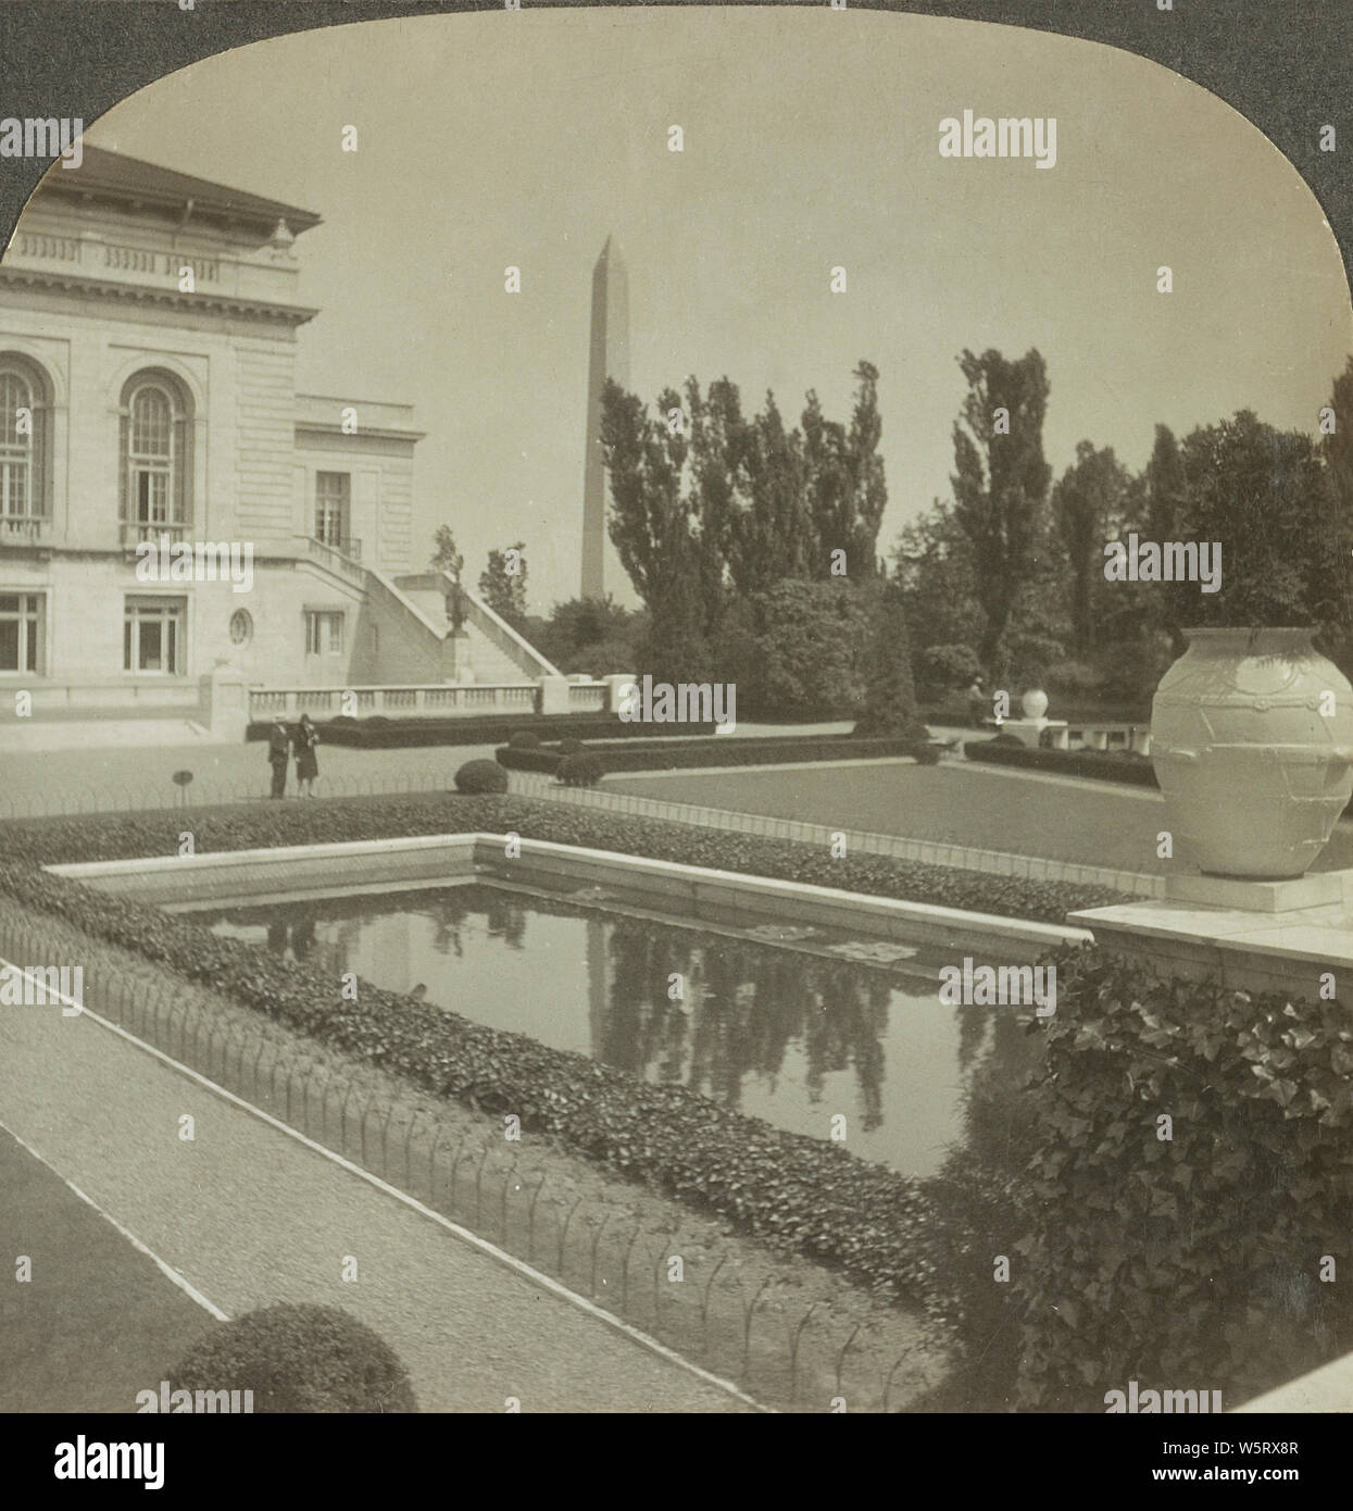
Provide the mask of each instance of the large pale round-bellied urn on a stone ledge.
[{"label": "large pale round-bellied urn on a stone ledge", "polygon": [[1184,630],[1151,707],[1173,854],[1220,876],[1290,878],[1353,795],[1353,686],[1314,630]]}]

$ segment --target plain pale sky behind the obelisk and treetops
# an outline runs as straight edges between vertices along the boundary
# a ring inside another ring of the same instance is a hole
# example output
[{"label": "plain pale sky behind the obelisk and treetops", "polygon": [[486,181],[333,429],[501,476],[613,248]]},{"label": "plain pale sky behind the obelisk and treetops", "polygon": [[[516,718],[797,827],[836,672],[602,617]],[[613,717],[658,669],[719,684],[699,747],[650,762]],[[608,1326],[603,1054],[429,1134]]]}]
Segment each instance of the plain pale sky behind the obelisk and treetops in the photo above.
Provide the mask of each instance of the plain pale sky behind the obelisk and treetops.
[{"label": "plain pale sky behind the obelisk and treetops", "polygon": [[[1056,116],[1057,165],[942,159],[963,109]],[[1059,476],[1081,438],[1140,467],[1157,420],[1314,431],[1353,351],[1333,236],[1255,127],[1155,63],[1012,27],[826,5],[373,21],[208,59],[88,138],[325,216],[297,242],[322,308],[300,390],[414,403],[415,542],[448,521],[473,582],[524,539],[533,610],[578,589],[609,233],[645,399],[728,375],[749,411],[770,387],[797,419],[815,387],[846,419],[856,361],[880,369],[882,548],[948,493],[965,346],[1043,354]]]}]

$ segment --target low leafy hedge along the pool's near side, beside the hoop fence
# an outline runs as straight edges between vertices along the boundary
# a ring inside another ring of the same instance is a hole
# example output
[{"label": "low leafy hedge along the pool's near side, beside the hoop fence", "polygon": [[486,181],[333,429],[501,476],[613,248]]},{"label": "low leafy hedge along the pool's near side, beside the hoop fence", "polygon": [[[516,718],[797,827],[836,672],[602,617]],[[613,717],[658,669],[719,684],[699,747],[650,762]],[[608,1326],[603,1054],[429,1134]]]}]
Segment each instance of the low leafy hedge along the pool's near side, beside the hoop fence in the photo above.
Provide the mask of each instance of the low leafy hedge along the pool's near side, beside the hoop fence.
[{"label": "low leafy hedge along the pool's near side, beside the hoop fence", "polygon": [[781,1132],[684,1086],[652,1085],[370,982],[356,1002],[346,1000],[319,963],[282,959],[32,866],[0,864],[0,891],[433,1095],[516,1114],[524,1129],[880,1293],[909,1293],[924,1281],[917,1239],[930,1207],[920,1185],[840,1144]]}]

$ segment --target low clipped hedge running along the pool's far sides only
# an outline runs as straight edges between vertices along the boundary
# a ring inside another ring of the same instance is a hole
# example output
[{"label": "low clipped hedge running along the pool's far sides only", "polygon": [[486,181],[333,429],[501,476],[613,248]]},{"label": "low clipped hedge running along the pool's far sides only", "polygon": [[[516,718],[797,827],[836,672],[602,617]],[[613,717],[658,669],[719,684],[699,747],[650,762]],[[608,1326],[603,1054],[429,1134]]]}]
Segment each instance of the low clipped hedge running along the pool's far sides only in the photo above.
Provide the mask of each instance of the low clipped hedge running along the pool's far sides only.
[{"label": "low clipped hedge running along the pool's far sides only", "polygon": [[[217,808],[172,808],[149,813],[15,819],[0,823],[0,857],[33,864],[130,860],[177,855],[178,836],[190,830],[196,854],[275,845],[332,845],[349,840],[402,839],[515,830],[553,840],[672,860],[716,870],[840,887],[906,902],[994,913],[1062,923],[1078,908],[1128,901],[1107,887],[1030,881],[986,872],[895,860],[891,855],[846,855],[797,840],[704,828],[667,819],[577,808],[565,802],[504,796],[394,795],[328,798],[305,804],[230,804]],[[17,896],[21,896],[17,893]]]}]

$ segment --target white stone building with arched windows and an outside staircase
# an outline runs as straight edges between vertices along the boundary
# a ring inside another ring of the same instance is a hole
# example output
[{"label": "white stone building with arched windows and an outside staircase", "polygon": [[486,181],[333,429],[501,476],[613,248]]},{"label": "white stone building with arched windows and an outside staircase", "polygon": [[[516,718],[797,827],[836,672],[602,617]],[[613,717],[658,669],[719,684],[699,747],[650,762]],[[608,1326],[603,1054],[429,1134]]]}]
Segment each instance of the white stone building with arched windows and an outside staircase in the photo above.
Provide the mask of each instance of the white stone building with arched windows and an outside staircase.
[{"label": "white stone building with arched windows and an outside staircase", "polygon": [[[94,147],[47,174],[0,260],[0,716],[557,675],[417,570],[412,409],[296,391],[317,222]],[[251,550],[252,585],[146,580],[145,541]]]}]

